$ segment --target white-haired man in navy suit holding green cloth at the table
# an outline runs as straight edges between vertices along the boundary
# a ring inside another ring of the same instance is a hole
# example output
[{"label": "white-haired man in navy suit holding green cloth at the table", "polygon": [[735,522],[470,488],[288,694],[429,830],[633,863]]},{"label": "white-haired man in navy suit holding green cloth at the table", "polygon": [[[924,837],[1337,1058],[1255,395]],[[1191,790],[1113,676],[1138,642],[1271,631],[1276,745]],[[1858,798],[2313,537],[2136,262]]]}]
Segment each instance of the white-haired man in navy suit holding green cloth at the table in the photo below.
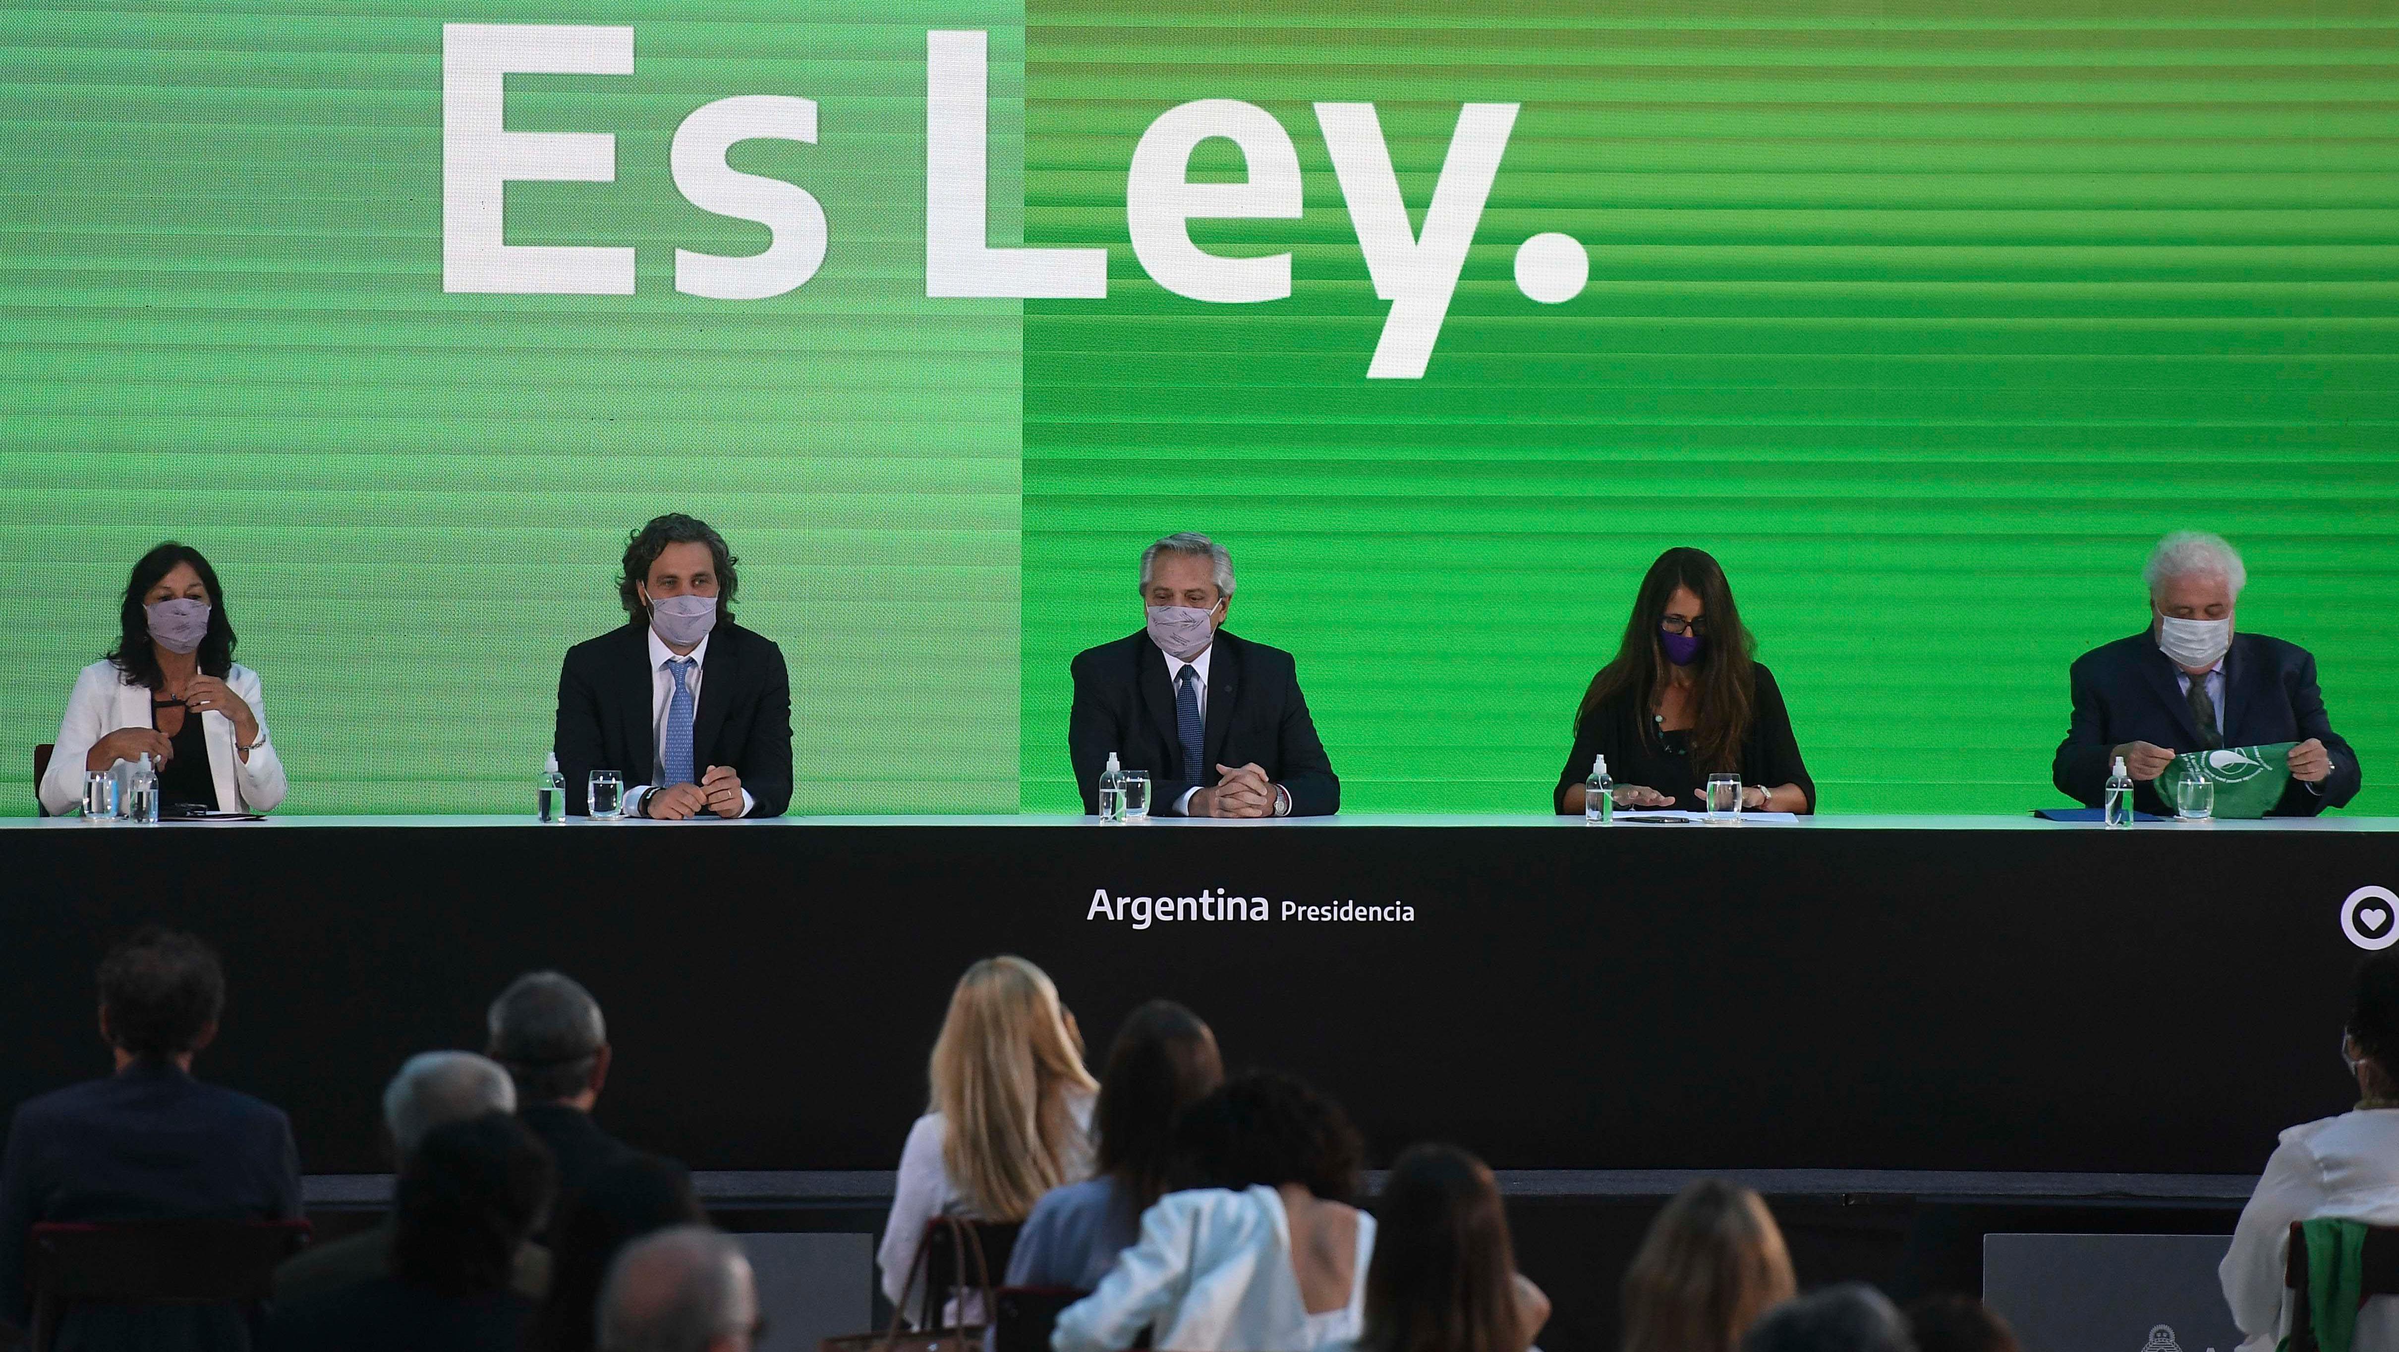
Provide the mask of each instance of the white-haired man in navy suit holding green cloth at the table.
[{"label": "white-haired man in navy suit holding green cloth at the table", "polygon": [[2262,633],[2233,633],[2248,583],[2217,535],[2178,530],[2150,566],[2150,628],[2075,659],[2075,714],[2051,779],[2090,808],[2106,798],[2116,758],[2142,813],[2171,815],[2157,791],[2176,753],[2293,741],[2291,786],[2272,817],[2313,817],[2358,796],[2358,755],[2332,731],[2315,657]]}]

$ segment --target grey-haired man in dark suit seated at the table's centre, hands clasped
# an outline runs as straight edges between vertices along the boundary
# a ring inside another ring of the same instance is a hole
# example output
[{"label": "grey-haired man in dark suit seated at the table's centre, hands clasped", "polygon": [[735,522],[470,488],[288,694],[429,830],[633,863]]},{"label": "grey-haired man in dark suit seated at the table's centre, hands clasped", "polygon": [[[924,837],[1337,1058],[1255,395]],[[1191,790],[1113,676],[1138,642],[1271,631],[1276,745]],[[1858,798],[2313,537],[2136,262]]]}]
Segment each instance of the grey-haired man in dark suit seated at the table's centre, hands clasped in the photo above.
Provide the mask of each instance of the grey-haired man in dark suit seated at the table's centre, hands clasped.
[{"label": "grey-haired man in dark suit seated at the table's centre, hands clasped", "polygon": [[1149,772],[1154,813],[1322,817],[1341,810],[1288,652],[1226,633],[1233,556],[1204,535],[1142,551],[1147,623],[1075,657],[1068,755],[1084,813],[1108,753]]}]

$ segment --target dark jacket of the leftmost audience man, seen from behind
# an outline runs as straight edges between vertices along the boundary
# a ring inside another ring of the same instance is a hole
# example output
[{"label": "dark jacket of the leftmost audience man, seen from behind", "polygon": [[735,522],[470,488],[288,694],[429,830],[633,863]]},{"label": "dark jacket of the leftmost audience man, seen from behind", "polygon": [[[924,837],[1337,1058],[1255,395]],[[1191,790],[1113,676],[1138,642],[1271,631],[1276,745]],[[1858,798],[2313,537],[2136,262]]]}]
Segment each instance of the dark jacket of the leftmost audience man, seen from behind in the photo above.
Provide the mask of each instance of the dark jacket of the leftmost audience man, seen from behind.
[{"label": "dark jacket of the leftmost audience man, seen from behind", "polygon": [[[24,1244],[41,1220],[297,1215],[300,1151],[283,1110],[173,1064],[137,1062],[17,1107],[0,1163],[0,1311],[19,1328],[26,1323]],[[182,1330],[154,1328],[166,1338],[158,1345],[223,1345],[209,1335],[209,1316],[230,1311],[130,1314]],[[62,1342],[72,1328],[70,1318]],[[247,1342],[247,1333],[238,1338]]]}]

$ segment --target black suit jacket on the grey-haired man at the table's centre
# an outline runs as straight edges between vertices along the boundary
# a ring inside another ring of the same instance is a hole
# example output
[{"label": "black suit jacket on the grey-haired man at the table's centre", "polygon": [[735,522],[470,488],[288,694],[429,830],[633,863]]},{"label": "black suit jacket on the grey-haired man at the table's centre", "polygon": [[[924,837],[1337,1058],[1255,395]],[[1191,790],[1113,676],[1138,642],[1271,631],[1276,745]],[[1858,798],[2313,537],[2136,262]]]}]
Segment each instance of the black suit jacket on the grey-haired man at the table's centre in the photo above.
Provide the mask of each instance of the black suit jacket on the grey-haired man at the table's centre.
[{"label": "black suit jacket on the grey-haired man at the table's centre", "polygon": [[[1209,657],[1207,724],[1197,789],[1216,786],[1219,765],[1257,762],[1291,791],[1293,817],[1341,810],[1341,779],[1324,758],[1317,724],[1300,695],[1298,664],[1281,647],[1216,630]],[[705,686],[703,686],[705,690]],[[1149,772],[1149,810],[1171,815],[1195,784],[1183,779],[1176,736],[1176,688],[1149,630],[1075,654],[1075,710],[1065,724],[1068,758],[1082,786],[1082,810],[1099,813],[1099,774],[1113,750],[1125,769]]]}]

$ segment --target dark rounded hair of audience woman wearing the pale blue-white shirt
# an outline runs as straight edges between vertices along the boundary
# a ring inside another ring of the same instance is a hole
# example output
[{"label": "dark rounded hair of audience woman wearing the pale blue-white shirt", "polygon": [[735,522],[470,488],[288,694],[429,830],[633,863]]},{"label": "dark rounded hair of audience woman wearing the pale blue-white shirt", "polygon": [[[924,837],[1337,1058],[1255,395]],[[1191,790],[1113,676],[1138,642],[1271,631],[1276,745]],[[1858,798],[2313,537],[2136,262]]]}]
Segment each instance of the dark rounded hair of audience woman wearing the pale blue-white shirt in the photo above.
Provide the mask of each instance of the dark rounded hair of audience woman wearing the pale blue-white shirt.
[{"label": "dark rounded hair of audience woman wearing the pale blue-white shirt", "polygon": [[1223,1081],[1176,1119],[1173,1187],[1300,1184],[1324,1201],[1358,1196],[1365,1146],[1341,1105],[1279,1072]]}]

